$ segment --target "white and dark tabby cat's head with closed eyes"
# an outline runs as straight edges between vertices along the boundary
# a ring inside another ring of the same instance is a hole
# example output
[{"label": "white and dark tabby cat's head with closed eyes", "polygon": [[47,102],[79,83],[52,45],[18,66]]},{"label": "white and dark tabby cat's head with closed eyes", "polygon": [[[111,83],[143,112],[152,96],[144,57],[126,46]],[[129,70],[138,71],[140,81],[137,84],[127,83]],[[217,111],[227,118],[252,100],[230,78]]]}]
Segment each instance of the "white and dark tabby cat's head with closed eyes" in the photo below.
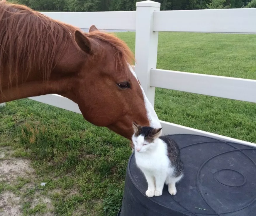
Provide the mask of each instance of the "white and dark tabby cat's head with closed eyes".
[{"label": "white and dark tabby cat's head with closed eyes", "polygon": [[133,130],[132,147],[140,153],[154,149],[156,139],[162,134],[162,128],[142,127],[134,122]]}]

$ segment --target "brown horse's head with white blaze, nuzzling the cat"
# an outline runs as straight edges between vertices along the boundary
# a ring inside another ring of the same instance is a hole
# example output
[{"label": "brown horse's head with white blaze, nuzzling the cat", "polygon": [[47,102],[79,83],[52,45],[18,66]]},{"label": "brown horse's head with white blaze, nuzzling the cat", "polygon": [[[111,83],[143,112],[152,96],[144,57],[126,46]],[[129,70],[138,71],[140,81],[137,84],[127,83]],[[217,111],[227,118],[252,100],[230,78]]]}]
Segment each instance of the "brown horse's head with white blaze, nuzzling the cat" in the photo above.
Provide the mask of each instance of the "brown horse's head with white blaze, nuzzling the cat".
[{"label": "brown horse's head with white blaze, nuzzling the cat", "polygon": [[75,41],[84,54],[76,86],[77,104],[84,118],[131,139],[132,122],[161,127],[154,108],[130,63],[128,46],[94,25],[89,33],[76,31]]}]

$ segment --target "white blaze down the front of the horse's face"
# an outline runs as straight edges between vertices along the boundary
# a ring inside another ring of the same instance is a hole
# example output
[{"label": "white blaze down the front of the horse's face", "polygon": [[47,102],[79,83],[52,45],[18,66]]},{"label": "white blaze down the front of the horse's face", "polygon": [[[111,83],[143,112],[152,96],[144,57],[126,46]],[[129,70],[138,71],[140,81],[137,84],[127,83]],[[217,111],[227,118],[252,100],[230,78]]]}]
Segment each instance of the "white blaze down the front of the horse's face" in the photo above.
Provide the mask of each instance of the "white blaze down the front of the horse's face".
[{"label": "white blaze down the front of the horse's face", "polygon": [[[136,80],[138,80],[138,77],[135,74],[135,71],[133,70],[131,65],[129,65],[129,68],[130,68],[130,71],[133,74],[133,76],[136,78]],[[153,128],[161,128],[162,126],[160,124],[160,121],[157,117],[157,114],[156,114],[152,104],[149,102],[149,100],[148,100],[143,88],[141,87],[141,85],[140,85],[140,88],[141,88],[141,91],[142,91],[142,94],[143,94],[143,97],[144,97],[145,108],[147,110],[147,116],[148,116],[148,119],[150,121],[150,126],[153,127]]]}]

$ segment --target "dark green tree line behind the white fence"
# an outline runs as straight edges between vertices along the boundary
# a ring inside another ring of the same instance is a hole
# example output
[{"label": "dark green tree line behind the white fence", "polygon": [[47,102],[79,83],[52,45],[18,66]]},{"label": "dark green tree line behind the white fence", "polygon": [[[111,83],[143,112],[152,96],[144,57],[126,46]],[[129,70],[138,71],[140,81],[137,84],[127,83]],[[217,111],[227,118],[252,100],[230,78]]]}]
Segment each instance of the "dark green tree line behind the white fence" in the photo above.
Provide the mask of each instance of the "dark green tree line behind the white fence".
[{"label": "dark green tree line behind the white fence", "polygon": [[[11,0],[12,1],[12,0]],[[135,11],[142,0],[16,0],[38,11]],[[160,10],[252,8],[256,0],[154,0]]]}]

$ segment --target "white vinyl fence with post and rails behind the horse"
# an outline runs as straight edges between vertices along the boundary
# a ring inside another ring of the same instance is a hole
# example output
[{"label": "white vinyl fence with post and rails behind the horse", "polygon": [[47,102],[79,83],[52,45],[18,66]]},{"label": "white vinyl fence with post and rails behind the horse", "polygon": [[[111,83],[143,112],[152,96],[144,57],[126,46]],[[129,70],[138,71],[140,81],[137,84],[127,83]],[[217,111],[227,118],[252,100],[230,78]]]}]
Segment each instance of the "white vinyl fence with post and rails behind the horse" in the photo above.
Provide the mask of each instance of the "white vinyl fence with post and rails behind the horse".
[{"label": "white vinyl fence with post and rails behind the horse", "polygon": [[[256,8],[190,11],[160,11],[160,3],[137,2],[136,11],[121,12],[47,12],[45,15],[88,29],[135,30],[135,72],[154,105],[155,87],[256,103],[256,80],[221,77],[156,68],[158,32],[256,33]],[[56,95],[30,99],[81,113],[77,104]],[[165,134],[199,134],[216,139],[256,146],[246,141],[161,121]]]}]

